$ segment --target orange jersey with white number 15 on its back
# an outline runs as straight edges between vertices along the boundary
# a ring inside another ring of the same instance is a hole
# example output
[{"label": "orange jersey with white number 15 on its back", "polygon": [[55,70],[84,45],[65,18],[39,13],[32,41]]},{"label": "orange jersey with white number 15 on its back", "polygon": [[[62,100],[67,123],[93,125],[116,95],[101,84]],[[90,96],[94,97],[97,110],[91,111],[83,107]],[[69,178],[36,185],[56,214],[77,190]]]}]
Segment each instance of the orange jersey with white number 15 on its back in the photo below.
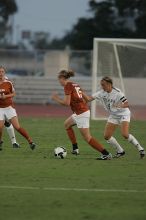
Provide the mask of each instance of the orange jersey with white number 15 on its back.
[{"label": "orange jersey with white number 15 on its back", "polygon": [[82,90],[77,83],[68,82],[64,86],[64,92],[65,95],[71,96],[70,106],[72,111],[75,112],[77,115],[80,115],[83,112],[89,110],[88,105],[85,103],[85,100],[83,99]]}]

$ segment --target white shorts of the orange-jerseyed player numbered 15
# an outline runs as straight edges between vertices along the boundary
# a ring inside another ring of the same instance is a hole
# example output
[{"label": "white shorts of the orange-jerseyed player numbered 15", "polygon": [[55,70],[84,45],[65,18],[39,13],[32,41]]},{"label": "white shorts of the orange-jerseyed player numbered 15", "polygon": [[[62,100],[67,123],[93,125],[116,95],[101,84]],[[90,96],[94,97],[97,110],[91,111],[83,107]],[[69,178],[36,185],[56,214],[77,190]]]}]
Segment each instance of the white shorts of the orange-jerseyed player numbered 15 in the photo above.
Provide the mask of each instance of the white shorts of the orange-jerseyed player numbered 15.
[{"label": "white shorts of the orange-jerseyed player numbered 15", "polygon": [[76,123],[78,128],[89,128],[90,126],[90,111],[86,111],[80,115],[73,114],[73,121]]}]

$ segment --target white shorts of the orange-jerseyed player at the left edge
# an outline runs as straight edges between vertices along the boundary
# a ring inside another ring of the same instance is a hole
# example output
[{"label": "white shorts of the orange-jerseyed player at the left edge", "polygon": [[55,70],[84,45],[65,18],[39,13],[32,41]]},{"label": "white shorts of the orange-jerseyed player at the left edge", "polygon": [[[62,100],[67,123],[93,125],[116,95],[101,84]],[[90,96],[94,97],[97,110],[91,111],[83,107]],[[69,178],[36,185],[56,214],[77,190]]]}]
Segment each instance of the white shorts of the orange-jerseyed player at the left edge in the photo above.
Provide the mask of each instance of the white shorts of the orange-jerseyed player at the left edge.
[{"label": "white shorts of the orange-jerseyed player at the left edge", "polygon": [[5,119],[10,120],[11,118],[17,116],[16,110],[12,107],[0,108],[0,120],[3,121]]}]

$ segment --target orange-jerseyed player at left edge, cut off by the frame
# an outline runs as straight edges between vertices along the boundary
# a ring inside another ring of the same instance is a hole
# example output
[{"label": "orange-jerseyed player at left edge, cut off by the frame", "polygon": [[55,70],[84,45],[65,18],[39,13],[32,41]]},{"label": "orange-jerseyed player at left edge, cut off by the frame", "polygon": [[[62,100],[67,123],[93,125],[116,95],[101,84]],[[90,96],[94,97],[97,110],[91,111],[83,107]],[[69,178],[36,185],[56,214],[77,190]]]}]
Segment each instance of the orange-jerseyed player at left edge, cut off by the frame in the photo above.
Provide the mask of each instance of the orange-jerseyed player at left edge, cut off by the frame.
[{"label": "orange-jerseyed player at left edge, cut off by the frame", "polygon": [[35,148],[35,143],[32,141],[26,130],[20,127],[12,100],[14,96],[14,87],[9,80],[5,79],[5,69],[4,67],[0,66],[0,142],[2,141],[2,130],[5,119],[8,119],[12,123],[13,127],[27,139],[30,148],[33,150]]}]

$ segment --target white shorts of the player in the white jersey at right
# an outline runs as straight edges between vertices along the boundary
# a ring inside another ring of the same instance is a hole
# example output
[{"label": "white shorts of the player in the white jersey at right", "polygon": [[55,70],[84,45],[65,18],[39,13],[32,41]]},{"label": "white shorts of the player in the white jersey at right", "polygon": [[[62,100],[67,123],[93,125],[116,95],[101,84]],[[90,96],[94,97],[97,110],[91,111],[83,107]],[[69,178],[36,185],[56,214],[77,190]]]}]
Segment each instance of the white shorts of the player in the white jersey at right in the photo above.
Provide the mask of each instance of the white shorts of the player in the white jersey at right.
[{"label": "white shorts of the player in the white jersey at right", "polygon": [[107,122],[117,124],[117,125],[121,124],[123,121],[130,122],[130,114],[129,115],[110,115],[107,120]]}]

